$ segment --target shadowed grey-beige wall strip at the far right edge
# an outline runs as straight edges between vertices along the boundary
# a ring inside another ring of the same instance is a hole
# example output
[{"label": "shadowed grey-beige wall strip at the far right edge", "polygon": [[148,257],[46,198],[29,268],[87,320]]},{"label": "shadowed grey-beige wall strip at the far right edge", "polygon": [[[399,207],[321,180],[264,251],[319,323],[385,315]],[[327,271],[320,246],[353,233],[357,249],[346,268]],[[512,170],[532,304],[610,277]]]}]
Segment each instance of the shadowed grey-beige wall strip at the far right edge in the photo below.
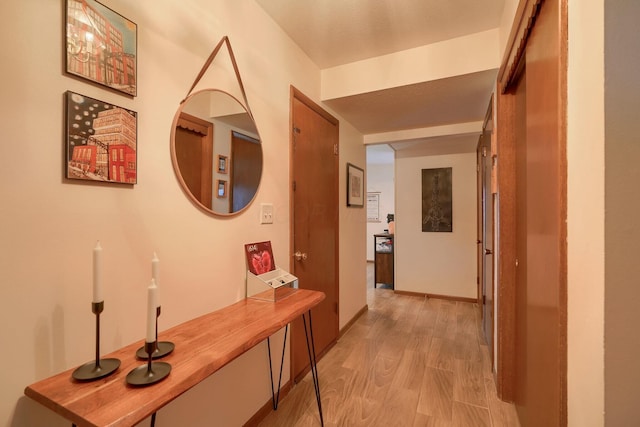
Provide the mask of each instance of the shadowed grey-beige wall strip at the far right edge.
[{"label": "shadowed grey-beige wall strip at the far right edge", "polygon": [[605,425],[640,425],[640,3],[605,0],[604,5]]}]

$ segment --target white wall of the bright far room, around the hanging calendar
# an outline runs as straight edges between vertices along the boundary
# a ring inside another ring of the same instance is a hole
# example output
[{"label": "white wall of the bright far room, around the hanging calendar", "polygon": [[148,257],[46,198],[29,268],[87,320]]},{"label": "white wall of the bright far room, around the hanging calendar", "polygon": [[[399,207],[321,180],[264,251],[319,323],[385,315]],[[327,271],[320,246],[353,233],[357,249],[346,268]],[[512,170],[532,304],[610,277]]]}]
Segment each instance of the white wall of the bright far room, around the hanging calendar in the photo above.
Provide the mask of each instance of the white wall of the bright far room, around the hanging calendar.
[{"label": "white wall of the bright far room, around the hanging calendar", "polygon": [[[393,153],[391,153],[393,156]],[[367,192],[380,193],[380,222],[367,222],[367,261],[373,261],[373,235],[389,229],[387,214],[395,209],[395,181],[393,163],[367,163]]]}]

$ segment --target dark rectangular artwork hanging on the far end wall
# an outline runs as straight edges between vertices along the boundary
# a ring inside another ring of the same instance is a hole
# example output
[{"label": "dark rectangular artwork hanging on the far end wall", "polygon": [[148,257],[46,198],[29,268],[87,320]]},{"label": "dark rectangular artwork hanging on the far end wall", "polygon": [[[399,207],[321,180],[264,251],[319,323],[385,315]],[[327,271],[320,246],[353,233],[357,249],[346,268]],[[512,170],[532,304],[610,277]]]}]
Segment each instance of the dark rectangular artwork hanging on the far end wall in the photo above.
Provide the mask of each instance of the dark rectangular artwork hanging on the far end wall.
[{"label": "dark rectangular artwork hanging on the far end wall", "polygon": [[422,231],[453,231],[452,168],[422,169]]}]

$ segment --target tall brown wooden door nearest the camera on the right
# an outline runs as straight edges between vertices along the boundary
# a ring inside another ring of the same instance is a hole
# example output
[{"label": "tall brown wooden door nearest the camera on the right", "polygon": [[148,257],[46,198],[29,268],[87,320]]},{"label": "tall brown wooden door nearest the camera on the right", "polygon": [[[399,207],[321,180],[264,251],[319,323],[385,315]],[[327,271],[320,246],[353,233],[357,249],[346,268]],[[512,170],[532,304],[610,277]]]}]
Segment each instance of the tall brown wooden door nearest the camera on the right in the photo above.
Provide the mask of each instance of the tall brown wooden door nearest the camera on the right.
[{"label": "tall brown wooden door nearest the camera on the right", "polygon": [[[526,336],[516,341],[526,341],[527,349],[523,361],[526,383],[519,382],[516,389],[523,397],[516,401],[525,414],[523,427],[564,425],[566,210],[562,199],[566,201],[566,167],[561,156],[566,159],[566,154],[561,140],[564,113],[558,16],[558,0],[542,4],[525,57],[527,135],[522,151],[526,156],[526,198],[520,197],[521,185],[516,187],[516,209],[526,210],[527,216],[516,233],[516,241],[525,238],[527,245],[526,256],[516,253],[516,259],[526,259],[525,271],[516,272],[516,292],[520,292],[518,280],[526,281],[526,311],[516,311],[516,316],[527,316]],[[522,245],[518,245],[520,249]]]}]

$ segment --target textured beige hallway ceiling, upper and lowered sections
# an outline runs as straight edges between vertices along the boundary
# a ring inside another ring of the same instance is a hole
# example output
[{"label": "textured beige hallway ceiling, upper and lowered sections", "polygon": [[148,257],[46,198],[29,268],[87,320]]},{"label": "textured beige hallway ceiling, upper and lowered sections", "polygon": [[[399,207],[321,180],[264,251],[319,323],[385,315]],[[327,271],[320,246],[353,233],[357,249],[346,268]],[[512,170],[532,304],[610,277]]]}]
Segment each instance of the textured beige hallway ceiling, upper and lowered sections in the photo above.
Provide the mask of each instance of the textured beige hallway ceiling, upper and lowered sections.
[{"label": "textured beige hallway ceiling, upper and lowered sections", "polygon": [[[325,69],[495,29],[505,0],[256,2]],[[364,135],[482,121],[496,74],[487,70],[324,102]]]}]

